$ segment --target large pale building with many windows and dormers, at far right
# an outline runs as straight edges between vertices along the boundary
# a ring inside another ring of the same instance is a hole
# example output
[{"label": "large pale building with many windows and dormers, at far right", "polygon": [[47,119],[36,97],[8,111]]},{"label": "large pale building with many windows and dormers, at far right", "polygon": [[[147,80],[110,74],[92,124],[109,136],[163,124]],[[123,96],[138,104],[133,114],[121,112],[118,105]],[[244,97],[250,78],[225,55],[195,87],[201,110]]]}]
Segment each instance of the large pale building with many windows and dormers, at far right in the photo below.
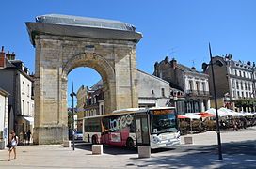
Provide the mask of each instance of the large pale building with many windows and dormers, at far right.
[{"label": "large pale building with many windows and dormers, at far right", "polygon": [[[256,98],[256,68],[255,63],[243,63],[232,60],[232,54],[224,57],[213,57],[213,63],[219,60],[223,66],[213,64],[216,80],[216,96],[224,98],[222,106],[232,108],[232,100]],[[205,64],[204,64],[205,65]],[[204,72],[210,75],[210,92],[213,94],[212,68],[204,67]]]}]

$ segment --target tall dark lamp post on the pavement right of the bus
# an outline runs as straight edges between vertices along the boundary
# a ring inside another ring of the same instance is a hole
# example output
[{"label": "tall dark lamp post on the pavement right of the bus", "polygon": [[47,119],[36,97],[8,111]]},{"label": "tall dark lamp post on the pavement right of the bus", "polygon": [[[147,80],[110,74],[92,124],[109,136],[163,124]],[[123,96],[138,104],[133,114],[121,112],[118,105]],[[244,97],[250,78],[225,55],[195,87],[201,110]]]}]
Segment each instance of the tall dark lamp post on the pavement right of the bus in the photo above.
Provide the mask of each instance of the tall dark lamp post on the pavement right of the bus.
[{"label": "tall dark lamp post on the pavement right of the bus", "polygon": [[211,64],[211,68],[212,68],[212,77],[213,77],[214,95],[215,95],[215,104],[216,104],[216,133],[217,133],[218,159],[222,160],[222,149],[221,149],[221,140],[220,140],[220,131],[219,131],[219,123],[218,123],[218,113],[217,113],[217,102],[216,102],[216,81],[215,81],[213,56],[212,56],[210,43],[209,43],[209,52],[210,52],[210,58],[211,58],[210,64]]}]

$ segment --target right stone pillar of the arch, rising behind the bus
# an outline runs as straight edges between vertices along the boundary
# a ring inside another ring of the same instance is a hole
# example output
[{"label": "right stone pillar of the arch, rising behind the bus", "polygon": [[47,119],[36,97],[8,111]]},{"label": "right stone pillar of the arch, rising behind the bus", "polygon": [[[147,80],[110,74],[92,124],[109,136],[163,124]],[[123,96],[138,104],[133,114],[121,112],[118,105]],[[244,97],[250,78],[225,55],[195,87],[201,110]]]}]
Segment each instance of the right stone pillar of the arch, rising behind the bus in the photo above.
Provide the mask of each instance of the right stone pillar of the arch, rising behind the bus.
[{"label": "right stone pillar of the arch, rising behind the bus", "polygon": [[135,47],[127,45],[115,50],[117,109],[138,107]]}]

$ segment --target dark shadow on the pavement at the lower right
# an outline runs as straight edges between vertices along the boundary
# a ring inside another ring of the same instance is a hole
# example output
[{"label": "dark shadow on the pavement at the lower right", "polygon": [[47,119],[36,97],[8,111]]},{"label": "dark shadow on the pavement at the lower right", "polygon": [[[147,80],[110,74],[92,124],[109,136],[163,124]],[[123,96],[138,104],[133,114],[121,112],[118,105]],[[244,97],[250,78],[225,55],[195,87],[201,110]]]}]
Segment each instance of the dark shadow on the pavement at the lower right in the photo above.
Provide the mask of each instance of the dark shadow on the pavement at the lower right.
[{"label": "dark shadow on the pavement at the lower right", "polygon": [[[159,168],[256,168],[256,141],[236,142],[222,145],[223,160],[218,160],[217,146],[175,146],[163,155],[144,161],[144,167]],[[164,153],[163,153],[164,152]],[[137,158],[133,158],[136,160]],[[129,166],[130,164],[127,164]]]}]

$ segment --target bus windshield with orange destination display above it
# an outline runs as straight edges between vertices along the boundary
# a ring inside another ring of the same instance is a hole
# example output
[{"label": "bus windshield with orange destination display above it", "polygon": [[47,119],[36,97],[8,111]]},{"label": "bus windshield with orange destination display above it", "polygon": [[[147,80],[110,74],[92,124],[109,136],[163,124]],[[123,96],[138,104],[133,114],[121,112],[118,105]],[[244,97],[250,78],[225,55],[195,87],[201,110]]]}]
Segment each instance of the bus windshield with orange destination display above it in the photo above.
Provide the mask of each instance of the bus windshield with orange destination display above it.
[{"label": "bus windshield with orange destination display above it", "polygon": [[152,110],[151,124],[152,134],[160,134],[164,132],[178,131],[176,128],[176,116],[174,110]]}]

